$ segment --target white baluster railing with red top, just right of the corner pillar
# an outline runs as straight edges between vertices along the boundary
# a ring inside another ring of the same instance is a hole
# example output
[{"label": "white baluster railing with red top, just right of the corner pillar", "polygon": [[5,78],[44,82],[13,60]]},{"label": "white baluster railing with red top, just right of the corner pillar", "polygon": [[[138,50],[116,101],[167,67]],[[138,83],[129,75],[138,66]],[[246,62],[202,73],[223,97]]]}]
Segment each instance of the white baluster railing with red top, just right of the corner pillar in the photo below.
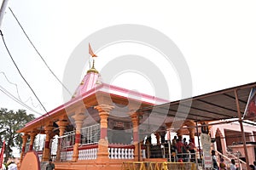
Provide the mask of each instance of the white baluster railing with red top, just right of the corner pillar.
[{"label": "white baluster railing with red top, just right of the corner pillar", "polygon": [[109,144],[110,159],[134,159],[134,145]]}]

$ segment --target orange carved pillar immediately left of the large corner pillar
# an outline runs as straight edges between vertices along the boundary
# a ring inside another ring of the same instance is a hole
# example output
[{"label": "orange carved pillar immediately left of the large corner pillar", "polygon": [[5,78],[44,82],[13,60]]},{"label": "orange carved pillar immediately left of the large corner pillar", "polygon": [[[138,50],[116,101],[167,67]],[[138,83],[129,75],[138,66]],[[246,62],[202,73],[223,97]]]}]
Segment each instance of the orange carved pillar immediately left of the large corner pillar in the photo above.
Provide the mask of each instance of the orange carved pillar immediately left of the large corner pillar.
[{"label": "orange carved pillar immediately left of the large corner pillar", "polygon": [[78,161],[79,160],[79,144],[81,139],[81,128],[84,123],[85,115],[81,112],[76,112],[74,116],[72,116],[75,125],[76,125],[76,134],[75,134],[75,144],[73,145],[73,159],[72,161]]}]

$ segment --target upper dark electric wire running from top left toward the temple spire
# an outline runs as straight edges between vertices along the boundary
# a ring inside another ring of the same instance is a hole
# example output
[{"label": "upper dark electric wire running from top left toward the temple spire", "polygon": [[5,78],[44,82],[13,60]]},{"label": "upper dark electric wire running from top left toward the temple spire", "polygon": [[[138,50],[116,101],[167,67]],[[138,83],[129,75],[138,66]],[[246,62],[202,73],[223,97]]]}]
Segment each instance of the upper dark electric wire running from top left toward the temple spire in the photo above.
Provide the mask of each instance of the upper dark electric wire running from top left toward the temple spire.
[{"label": "upper dark electric wire running from top left toward the temple spire", "polygon": [[68,92],[68,94],[70,94],[72,96],[72,93],[68,90],[68,88],[61,82],[61,80],[55,75],[55,73],[49,68],[49,65],[46,63],[46,61],[44,60],[43,56],[39,53],[38,48],[35,47],[35,45],[33,44],[33,42],[31,41],[30,37],[28,37],[28,35],[26,34],[26,31],[24,30],[23,26],[21,26],[20,21],[18,20],[18,18],[16,17],[15,13],[13,12],[13,10],[9,7],[10,12],[13,14],[13,16],[15,17],[15,20],[17,21],[17,23],[19,24],[21,30],[23,31],[23,33],[25,34],[27,40],[31,43],[32,47],[35,49],[35,51],[37,52],[37,54],[39,55],[39,57],[44,61],[44,65],[46,65],[46,67],[49,69],[49,71],[51,72],[51,74],[56,78],[56,80],[58,82],[61,83],[61,86],[63,88],[65,88]]}]

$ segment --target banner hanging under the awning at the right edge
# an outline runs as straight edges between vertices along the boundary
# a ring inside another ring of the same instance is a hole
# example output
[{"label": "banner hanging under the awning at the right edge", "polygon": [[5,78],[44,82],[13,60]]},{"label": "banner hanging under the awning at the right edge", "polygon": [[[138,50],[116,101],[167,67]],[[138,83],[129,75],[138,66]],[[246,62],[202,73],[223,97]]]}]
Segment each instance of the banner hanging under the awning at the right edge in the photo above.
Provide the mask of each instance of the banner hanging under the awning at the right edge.
[{"label": "banner hanging under the awning at the right edge", "polygon": [[256,118],[256,88],[251,89],[247,100],[247,106],[243,114],[244,119],[253,121]]}]

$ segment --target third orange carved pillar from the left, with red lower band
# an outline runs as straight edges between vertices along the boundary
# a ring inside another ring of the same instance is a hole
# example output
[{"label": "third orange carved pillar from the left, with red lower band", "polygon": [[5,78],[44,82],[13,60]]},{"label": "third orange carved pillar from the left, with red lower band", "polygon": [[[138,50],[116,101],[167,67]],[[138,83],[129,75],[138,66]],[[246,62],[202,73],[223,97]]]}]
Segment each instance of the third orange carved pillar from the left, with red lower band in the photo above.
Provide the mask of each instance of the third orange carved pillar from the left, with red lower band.
[{"label": "third orange carved pillar from the left, with red lower band", "polygon": [[43,151],[42,161],[49,161],[49,142],[50,142],[50,135],[52,133],[53,128],[54,127],[51,125],[44,127],[46,136],[45,136],[45,142],[44,142],[44,151]]}]

